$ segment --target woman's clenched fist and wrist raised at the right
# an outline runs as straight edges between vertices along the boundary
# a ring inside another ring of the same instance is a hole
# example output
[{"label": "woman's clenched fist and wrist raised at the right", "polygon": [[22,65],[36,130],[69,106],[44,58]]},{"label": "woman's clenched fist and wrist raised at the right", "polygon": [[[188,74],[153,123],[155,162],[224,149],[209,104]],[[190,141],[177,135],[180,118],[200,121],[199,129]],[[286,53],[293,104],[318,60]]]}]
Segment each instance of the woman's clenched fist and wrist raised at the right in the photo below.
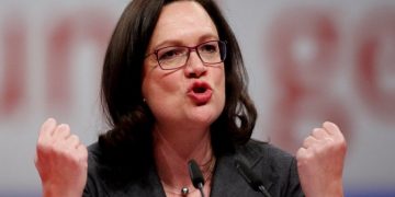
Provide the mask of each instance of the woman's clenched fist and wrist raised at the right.
[{"label": "woman's clenched fist and wrist raised at the right", "polygon": [[343,196],[342,170],[347,144],[340,129],[326,121],[296,152],[297,171],[307,197]]}]

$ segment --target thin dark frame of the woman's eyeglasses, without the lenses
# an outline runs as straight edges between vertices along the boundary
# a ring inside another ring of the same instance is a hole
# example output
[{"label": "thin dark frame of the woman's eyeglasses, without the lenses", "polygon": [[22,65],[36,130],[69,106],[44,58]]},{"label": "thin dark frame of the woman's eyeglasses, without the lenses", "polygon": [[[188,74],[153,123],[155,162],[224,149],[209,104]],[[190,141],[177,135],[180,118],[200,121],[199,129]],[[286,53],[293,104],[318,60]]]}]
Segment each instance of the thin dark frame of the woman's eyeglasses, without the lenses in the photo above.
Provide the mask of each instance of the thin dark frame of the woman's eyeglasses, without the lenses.
[{"label": "thin dark frame of the woman's eyeglasses, without the lenses", "polygon": [[[211,42],[217,42],[217,43],[218,43],[218,49],[219,49],[219,50],[221,50],[219,44],[222,44],[222,45],[224,46],[224,48],[223,48],[223,49],[225,50],[225,51],[224,51],[224,58],[221,58],[221,57],[222,57],[222,53],[219,51],[221,61],[218,61],[218,62],[205,62],[205,61],[202,59],[202,57],[201,57],[201,55],[200,55],[200,53],[199,53],[199,50],[198,50],[198,48],[199,48],[200,46],[202,46],[202,45],[204,45],[204,44],[207,44],[207,43],[211,43]],[[196,46],[193,46],[193,47],[189,47],[189,46],[178,46],[178,45],[174,45],[174,46],[166,46],[166,47],[161,47],[161,48],[155,49],[155,50],[154,50],[153,53],[150,53],[150,54],[147,54],[147,55],[145,56],[145,58],[148,58],[149,56],[155,55],[156,60],[157,60],[158,66],[159,66],[160,69],[162,69],[162,70],[176,70],[176,69],[182,68],[182,67],[184,67],[184,66],[187,65],[187,62],[188,62],[188,60],[189,60],[189,58],[190,58],[190,56],[191,56],[191,53],[194,50],[194,51],[196,51],[196,55],[198,55],[199,59],[203,62],[204,66],[205,66],[205,65],[216,65],[216,63],[224,62],[225,59],[226,59],[226,55],[227,55],[227,48],[226,48],[227,46],[226,46],[226,44],[227,44],[226,40],[213,39],[213,40],[207,40],[207,42],[200,43],[200,44],[198,44]],[[161,49],[163,49],[163,48],[169,48],[169,47],[183,47],[183,48],[187,48],[187,49],[188,49],[187,59],[185,59],[185,62],[184,62],[183,65],[178,66],[178,67],[174,67],[174,68],[170,68],[170,69],[169,69],[169,68],[163,68],[162,66],[160,66],[158,51],[161,50]]]}]

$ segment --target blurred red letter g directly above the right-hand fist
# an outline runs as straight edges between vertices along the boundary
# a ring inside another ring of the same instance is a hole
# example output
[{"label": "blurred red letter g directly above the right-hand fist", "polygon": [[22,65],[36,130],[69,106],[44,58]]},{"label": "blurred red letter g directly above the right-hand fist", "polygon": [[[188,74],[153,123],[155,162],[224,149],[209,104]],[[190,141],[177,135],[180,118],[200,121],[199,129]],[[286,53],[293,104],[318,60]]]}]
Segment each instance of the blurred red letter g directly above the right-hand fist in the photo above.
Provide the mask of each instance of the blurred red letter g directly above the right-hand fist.
[{"label": "blurred red letter g directly above the right-hand fist", "polygon": [[284,10],[273,21],[271,31],[270,70],[279,92],[270,113],[271,140],[295,152],[306,136],[298,135],[297,127],[323,120],[337,123],[349,138],[347,106],[331,93],[339,71],[340,47],[334,14],[312,8]]}]

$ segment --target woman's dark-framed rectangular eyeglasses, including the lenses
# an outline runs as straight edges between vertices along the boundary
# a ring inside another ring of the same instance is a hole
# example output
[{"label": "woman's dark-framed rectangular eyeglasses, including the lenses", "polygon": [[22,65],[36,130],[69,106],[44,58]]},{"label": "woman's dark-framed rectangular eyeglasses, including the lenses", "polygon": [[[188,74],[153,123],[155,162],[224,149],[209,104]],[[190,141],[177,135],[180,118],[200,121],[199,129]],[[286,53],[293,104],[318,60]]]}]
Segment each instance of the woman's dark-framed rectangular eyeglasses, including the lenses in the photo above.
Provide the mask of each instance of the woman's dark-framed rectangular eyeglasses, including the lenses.
[{"label": "woman's dark-framed rectangular eyeglasses, including the lenses", "polygon": [[221,63],[226,58],[226,42],[210,40],[199,44],[194,47],[188,46],[168,46],[156,49],[155,54],[158,65],[162,70],[174,70],[187,65],[191,51],[196,51],[203,65]]}]

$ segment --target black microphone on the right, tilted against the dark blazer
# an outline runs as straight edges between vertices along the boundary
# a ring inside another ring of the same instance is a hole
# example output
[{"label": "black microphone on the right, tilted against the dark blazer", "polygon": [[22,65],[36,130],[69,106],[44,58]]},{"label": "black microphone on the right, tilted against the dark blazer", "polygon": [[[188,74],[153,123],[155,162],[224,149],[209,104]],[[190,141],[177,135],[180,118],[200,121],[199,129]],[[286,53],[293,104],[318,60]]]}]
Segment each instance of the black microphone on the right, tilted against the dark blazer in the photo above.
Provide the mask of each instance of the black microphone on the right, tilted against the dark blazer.
[{"label": "black microphone on the right, tilted against the dark blazer", "polygon": [[271,197],[269,192],[264,188],[263,183],[256,176],[251,170],[241,161],[236,161],[236,169],[248,185],[256,192],[263,194],[266,197]]}]

